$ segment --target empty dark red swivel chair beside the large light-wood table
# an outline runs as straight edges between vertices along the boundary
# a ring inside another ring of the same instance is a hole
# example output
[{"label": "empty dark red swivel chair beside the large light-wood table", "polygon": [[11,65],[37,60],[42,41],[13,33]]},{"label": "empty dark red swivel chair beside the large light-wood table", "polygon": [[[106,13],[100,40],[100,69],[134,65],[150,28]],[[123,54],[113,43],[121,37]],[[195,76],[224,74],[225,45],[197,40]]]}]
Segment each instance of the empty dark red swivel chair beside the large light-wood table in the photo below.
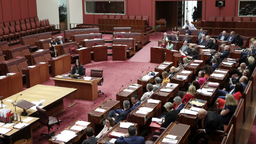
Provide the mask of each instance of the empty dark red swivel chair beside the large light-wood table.
[{"label": "empty dark red swivel chair beside the large light-wood table", "polygon": [[44,109],[41,109],[40,107],[36,106],[36,109],[38,111],[38,114],[39,114],[39,122],[42,123],[43,125],[46,125],[48,127],[48,134],[41,134],[42,135],[45,135],[44,137],[41,137],[39,139],[39,141],[45,137],[49,137],[51,138],[52,136],[55,135],[55,131],[51,132],[50,133],[50,128],[52,128],[53,125],[57,124],[57,125],[60,125],[60,123],[62,122],[62,120],[59,120],[58,118],[55,118],[53,116],[48,116],[48,113],[46,110]]}]

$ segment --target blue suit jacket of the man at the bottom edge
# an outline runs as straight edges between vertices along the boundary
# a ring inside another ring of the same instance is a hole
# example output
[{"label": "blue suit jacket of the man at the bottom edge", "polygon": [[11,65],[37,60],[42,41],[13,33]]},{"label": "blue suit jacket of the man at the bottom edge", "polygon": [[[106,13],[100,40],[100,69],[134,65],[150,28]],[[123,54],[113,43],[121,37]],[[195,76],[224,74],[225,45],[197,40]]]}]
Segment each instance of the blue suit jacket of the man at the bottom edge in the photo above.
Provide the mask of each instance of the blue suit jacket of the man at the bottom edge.
[{"label": "blue suit jacket of the man at the bottom edge", "polygon": [[137,135],[133,135],[127,138],[123,136],[116,139],[115,144],[145,144],[144,137],[138,137]]}]

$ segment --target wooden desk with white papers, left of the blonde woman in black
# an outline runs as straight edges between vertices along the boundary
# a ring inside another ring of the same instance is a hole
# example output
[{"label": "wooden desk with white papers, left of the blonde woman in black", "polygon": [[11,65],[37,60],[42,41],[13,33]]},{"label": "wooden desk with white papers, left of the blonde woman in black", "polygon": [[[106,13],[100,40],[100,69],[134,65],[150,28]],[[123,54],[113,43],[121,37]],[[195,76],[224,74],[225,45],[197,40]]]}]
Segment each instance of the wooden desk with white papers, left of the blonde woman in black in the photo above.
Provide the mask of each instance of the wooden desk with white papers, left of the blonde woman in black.
[{"label": "wooden desk with white papers, left of the blonde woman in black", "polygon": [[[151,112],[147,114],[136,113],[141,107],[152,108]],[[152,117],[159,117],[161,116],[161,101],[158,104],[148,103],[147,101],[143,102],[140,106],[136,108],[136,110],[131,114],[131,122],[137,123],[139,125],[146,125],[147,121]]]}]

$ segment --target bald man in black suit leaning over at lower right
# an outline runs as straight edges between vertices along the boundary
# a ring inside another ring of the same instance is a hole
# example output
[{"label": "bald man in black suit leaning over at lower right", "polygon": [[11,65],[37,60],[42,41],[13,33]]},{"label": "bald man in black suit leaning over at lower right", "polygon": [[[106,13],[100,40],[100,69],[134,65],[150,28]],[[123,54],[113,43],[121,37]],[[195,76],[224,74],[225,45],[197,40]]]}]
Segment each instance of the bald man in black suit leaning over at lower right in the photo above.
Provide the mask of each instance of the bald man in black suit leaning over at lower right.
[{"label": "bald man in black suit leaning over at lower right", "polygon": [[198,131],[197,136],[193,139],[193,144],[197,143],[202,137],[210,139],[214,130],[224,130],[223,123],[215,112],[200,109],[198,117],[200,119],[197,123]]}]

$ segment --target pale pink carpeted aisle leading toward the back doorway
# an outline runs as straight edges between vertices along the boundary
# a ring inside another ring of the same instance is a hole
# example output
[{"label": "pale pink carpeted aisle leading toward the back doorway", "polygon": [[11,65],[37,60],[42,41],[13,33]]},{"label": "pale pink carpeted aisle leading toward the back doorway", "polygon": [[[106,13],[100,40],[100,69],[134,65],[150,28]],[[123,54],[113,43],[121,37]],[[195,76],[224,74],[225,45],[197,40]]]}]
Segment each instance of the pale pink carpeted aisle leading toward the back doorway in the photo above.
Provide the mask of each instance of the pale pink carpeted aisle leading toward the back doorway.
[{"label": "pale pink carpeted aisle leading toward the back doorway", "polygon": [[135,62],[150,62],[150,47],[158,47],[157,41],[149,42],[145,47],[143,47],[139,52],[137,52],[128,61]]}]

